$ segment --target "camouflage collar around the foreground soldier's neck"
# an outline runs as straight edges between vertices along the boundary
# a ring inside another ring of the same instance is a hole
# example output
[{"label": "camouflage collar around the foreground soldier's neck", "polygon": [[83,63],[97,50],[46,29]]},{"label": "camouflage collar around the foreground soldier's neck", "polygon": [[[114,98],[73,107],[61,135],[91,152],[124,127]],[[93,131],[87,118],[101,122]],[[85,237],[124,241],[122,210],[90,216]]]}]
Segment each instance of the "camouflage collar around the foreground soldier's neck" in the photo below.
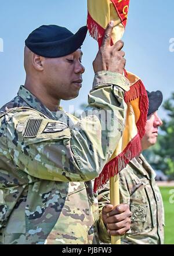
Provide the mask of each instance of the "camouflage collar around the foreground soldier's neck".
[{"label": "camouflage collar around the foreground soldier's neck", "polygon": [[61,111],[51,112],[37,97],[35,97],[30,91],[28,91],[24,86],[20,86],[17,93],[31,108],[36,109],[44,113],[50,119],[57,119],[57,114]]}]

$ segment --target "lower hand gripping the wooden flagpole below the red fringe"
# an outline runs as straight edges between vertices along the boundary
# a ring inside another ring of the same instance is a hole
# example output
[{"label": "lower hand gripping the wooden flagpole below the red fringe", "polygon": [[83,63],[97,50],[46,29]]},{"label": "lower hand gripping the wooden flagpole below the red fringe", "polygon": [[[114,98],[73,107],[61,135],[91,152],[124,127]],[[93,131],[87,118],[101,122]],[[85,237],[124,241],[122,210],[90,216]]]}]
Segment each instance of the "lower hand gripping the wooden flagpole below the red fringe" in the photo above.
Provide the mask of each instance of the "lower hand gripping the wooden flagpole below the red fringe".
[{"label": "lower hand gripping the wooden flagpole below the red fringe", "polygon": [[132,213],[128,204],[119,204],[117,207],[108,204],[102,209],[102,219],[111,236],[122,236],[131,228]]}]

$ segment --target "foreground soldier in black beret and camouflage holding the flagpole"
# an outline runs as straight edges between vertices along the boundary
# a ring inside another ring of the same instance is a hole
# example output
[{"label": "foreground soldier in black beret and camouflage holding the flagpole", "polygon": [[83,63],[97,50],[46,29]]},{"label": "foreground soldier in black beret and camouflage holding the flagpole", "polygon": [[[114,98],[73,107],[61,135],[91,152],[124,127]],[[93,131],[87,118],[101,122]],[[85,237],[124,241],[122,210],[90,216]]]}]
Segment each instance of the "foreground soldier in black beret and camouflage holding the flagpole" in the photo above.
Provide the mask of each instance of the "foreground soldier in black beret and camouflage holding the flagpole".
[{"label": "foreground soldier in black beret and camouflage holding the flagpole", "polygon": [[[93,179],[113,154],[126,116],[123,43],[110,46],[112,29],[109,24],[93,63],[95,79],[81,119],[59,104],[77,97],[81,88],[79,48],[86,27],[74,35],[59,26],[41,26],[27,38],[26,83],[1,108],[1,244],[96,244],[129,230],[128,205],[114,209],[122,218],[121,231],[115,222],[107,230],[110,217],[103,222],[93,193]],[[103,120],[99,111],[110,116]],[[112,209],[105,207],[103,214]]]}]

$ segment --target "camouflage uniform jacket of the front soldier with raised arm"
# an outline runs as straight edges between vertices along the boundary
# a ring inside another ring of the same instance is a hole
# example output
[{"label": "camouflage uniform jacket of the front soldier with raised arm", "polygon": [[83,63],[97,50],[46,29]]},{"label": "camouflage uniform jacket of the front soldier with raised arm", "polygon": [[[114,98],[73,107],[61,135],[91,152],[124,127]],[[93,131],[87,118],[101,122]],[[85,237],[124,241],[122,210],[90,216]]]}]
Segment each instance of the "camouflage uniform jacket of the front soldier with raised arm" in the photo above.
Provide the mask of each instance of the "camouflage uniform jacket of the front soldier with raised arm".
[{"label": "camouflage uniform jacket of the front soldier with raised arm", "polygon": [[[1,108],[1,244],[96,244],[99,236],[108,239],[92,180],[122,136],[128,90],[124,76],[103,71],[95,75],[81,119],[50,112],[23,86]],[[99,111],[110,113],[105,129]],[[117,133],[112,135],[114,120]]]}]

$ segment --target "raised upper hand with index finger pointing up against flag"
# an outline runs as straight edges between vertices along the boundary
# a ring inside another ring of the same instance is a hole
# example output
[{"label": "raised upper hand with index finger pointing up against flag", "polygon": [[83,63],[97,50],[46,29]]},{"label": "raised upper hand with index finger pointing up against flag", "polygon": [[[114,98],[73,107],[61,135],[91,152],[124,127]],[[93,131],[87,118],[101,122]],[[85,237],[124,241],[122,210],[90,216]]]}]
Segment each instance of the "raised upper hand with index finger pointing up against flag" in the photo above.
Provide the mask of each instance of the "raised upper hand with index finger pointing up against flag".
[{"label": "raised upper hand with index finger pointing up against flag", "polygon": [[123,74],[126,60],[124,58],[125,53],[121,51],[124,46],[124,42],[119,40],[114,45],[110,45],[111,34],[114,27],[114,22],[110,22],[107,25],[102,46],[97,53],[95,61],[93,61],[94,72],[101,70],[108,70],[111,72],[118,72]]}]

